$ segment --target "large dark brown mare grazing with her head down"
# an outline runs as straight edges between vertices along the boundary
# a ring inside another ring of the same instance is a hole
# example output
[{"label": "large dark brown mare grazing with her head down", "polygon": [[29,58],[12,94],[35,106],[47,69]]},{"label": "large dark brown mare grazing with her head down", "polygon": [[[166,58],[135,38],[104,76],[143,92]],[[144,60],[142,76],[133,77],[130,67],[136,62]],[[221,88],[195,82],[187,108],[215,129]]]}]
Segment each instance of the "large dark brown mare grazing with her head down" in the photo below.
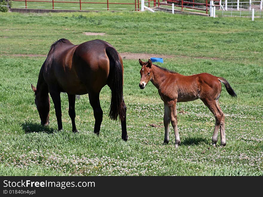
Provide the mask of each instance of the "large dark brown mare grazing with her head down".
[{"label": "large dark brown mare grazing with her head down", "polygon": [[51,45],[40,69],[36,88],[31,84],[41,124],[49,124],[49,93],[55,107],[58,130],[62,130],[60,92],[66,92],[72,131],[77,132],[75,95],[88,94],[95,118],[94,133],[99,134],[103,118],[99,95],[105,85],[111,89],[109,117],[117,120],[119,115],[122,139],[126,141],[128,135],[123,99],[123,62],[119,53],[103,40],[91,40],[79,45],[74,45],[67,39],[56,41]]}]

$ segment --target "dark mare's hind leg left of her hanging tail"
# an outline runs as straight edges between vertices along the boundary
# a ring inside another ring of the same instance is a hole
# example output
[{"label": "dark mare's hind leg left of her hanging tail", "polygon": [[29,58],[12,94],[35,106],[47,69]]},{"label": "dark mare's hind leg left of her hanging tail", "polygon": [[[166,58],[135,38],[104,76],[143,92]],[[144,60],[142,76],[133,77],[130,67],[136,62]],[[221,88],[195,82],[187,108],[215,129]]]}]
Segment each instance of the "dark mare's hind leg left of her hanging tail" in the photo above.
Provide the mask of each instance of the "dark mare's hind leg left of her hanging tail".
[{"label": "dark mare's hind leg left of her hanging tail", "polygon": [[102,117],[103,117],[103,111],[100,107],[100,94],[89,93],[88,98],[89,98],[91,107],[93,108],[93,113],[94,113],[94,118],[95,118],[94,133],[99,135],[100,125],[101,125]]}]

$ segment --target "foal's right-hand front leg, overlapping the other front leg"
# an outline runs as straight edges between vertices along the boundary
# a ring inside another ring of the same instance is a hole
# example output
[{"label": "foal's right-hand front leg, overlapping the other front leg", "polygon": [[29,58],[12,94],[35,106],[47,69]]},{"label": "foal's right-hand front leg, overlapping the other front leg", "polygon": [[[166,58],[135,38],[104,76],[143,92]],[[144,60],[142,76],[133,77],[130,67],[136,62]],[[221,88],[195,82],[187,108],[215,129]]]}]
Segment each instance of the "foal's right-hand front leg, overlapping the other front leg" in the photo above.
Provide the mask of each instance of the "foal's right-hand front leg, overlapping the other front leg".
[{"label": "foal's right-hand front leg, overlapping the other front leg", "polygon": [[177,128],[177,112],[176,112],[177,99],[167,102],[167,106],[170,109],[170,121],[175,132],[175,148],[178,148],[181,143],[178,128]]}]

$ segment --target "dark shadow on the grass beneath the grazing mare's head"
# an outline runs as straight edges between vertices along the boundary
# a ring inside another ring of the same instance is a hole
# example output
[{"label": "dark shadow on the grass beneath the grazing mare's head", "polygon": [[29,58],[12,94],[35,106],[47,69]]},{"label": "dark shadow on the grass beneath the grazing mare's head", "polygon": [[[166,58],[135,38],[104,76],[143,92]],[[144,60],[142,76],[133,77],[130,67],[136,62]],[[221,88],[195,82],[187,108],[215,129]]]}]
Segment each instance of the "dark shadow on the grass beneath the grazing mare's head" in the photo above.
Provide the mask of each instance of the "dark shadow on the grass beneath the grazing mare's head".
[{"label": "dark shadow on the grass beneath the grazing mare's head", "polygon": [[54,129],[48,127],[48,126],[42,126],[41,124],[36,124],[32,122],[25,122],[21,123],[22,129],[25,131],[25,133],[39,133],[39,132],[44,132],[48,134],[52,134],[55,132]]}]

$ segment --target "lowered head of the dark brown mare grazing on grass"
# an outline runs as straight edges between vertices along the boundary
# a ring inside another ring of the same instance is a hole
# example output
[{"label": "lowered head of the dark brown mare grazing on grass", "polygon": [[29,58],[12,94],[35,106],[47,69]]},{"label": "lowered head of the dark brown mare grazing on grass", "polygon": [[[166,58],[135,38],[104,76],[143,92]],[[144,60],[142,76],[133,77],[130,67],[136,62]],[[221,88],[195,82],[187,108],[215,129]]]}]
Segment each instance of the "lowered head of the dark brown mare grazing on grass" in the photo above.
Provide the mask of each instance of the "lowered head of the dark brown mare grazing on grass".
[{"label": "lowered head of the dark brown mare grazing on grass", "polygon": [[42,95],[36,90],[36,88],[31,84],[32,90],[35,92],[35,103],[36,108],[39,113],[41,120],[41,125],[49,125],[49,110],[50,110],[50,100],[48,94],[42,97]]}]

